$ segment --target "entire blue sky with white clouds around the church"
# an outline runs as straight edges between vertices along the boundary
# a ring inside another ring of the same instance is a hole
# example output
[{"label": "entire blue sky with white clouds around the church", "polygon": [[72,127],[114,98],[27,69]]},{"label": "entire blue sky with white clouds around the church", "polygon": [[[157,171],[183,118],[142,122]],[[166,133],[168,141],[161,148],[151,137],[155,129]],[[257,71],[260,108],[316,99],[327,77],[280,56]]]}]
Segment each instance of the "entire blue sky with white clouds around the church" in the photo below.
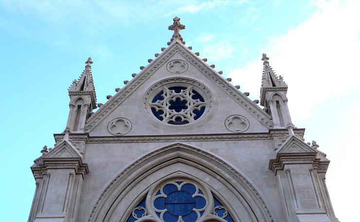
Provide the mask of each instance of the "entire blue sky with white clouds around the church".
[{"label": "entire blue sky with white clouds around the church", "polygon": [[331,160],[326,181],[337,217],[355,219],[349,212],[360,195],[350,190],[359,178],[350,156],[360,154],[359,8],[352,0],[0,0],[1,152],[8,168],[0,218],[27,220],[35,190],[30,166],[64,130],[67,89],[87,58],[97,102],[105,103],[167,47],[167,27],[178,16],[186,46],[251,99],[259,97],[261,54],[268,54],[289,85],[293,123]]}]

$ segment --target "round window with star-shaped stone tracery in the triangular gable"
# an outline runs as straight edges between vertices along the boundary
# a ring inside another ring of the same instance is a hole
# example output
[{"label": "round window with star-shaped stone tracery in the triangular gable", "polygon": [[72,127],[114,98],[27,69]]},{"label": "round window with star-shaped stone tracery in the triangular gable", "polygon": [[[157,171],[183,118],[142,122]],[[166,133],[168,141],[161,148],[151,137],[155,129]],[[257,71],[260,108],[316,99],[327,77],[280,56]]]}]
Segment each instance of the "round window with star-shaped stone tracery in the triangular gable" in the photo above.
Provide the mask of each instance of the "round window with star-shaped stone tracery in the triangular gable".
[{"label": "round window with star-shaped stone tracery in the triangular gable", "polygon": [[144,97],[150,116],[171,125],[195,122],[205,116],[212,102],[204,85],[184,78],[163,80],[153,85]]}]

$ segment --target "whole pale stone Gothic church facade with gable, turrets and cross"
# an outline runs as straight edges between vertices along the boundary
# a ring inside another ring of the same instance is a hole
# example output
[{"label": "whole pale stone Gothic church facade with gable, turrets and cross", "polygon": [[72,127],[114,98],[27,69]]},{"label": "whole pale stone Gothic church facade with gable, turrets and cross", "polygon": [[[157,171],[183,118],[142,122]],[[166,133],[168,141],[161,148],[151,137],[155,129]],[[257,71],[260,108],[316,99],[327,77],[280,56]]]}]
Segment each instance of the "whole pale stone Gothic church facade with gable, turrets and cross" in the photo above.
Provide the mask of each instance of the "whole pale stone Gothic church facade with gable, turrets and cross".
[{"label": "whole pale stone Gothic church facade with gable, turrets and cross", "polygon": [[266,54],[251,101],[184,46],[173,20],[168,47],[105,104],[88,59],[65,131],[31,167],[28,222],[338,222],[330,161],[292,124]]}]

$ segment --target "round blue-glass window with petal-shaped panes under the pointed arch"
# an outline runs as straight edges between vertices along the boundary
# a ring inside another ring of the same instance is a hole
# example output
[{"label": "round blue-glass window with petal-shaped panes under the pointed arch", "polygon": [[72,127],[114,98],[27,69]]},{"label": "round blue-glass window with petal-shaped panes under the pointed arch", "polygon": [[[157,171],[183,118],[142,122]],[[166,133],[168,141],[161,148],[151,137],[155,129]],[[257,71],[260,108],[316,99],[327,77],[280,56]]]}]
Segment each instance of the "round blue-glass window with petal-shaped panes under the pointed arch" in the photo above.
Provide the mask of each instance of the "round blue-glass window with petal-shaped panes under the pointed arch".
[{"label": "round blue-glass window with petal-shaped panes under the pointed arch", "polygon": [[205,212],[207,201],[202,190],[193,183],[169,182],[156,193],[153,201],[156,214],[163,222],[196,222]]}]

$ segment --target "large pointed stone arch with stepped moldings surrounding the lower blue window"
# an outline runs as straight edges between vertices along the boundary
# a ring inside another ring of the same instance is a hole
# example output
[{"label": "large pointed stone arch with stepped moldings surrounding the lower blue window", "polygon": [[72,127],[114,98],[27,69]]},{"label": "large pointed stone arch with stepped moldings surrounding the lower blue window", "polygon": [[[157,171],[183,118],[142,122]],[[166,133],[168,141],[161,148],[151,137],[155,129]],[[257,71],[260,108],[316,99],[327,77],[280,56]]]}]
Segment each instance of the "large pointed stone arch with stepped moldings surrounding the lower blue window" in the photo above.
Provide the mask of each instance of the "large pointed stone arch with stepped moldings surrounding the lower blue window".
[{"label": "large pointed stone arch with stepped moldings surrounding the lower blue window", "polygon": [[[132,208],[153,186],[174,177],[186,177],[205,184],[227,205],[236,222],[273,221],[265,201],[241,171],[207,151],[174,143],[145,154],[116,174],[93,204],[88,222],[125,222]],[[157,220],[151,216],[138,220],[147,221]],[[216,217],[201,221],[224,222]]]}]

